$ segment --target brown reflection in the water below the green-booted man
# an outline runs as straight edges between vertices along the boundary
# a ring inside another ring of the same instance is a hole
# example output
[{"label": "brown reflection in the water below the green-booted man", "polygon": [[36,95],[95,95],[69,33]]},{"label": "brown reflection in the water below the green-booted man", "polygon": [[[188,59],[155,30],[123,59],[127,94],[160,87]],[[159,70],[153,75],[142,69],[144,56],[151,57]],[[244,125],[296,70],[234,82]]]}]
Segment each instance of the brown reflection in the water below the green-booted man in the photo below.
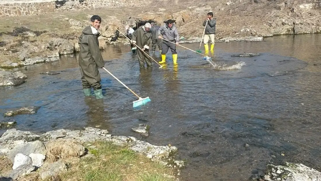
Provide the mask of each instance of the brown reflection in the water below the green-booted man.
[{"label": "brown reflection in the water below the green-booted man", "polygon": [[[106,97],[106,96],[105,96]],[[103,99],[94,96],[85,96],[85,104],[88,106],[88,126],[100,129],[110,129],[108,112],[105,111]]]}]

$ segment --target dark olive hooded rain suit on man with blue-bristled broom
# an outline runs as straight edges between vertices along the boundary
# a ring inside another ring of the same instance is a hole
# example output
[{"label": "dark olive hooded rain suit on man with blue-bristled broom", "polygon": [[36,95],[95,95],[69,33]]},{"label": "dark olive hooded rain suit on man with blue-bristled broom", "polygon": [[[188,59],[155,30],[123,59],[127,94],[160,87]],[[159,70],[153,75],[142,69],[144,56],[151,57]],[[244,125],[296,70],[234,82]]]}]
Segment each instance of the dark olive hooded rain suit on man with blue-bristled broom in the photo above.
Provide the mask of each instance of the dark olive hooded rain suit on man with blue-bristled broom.
[{"label": "dark olive hooded rain suit on man with blue-bristled broom", "polygon": [[98,68],[104,67],[105,63],[99,49],[99,32],[91,26],[87,26],[79,37],[79,59],[78,63],[82,76],[89,84],[99,82],[100,74]]}]

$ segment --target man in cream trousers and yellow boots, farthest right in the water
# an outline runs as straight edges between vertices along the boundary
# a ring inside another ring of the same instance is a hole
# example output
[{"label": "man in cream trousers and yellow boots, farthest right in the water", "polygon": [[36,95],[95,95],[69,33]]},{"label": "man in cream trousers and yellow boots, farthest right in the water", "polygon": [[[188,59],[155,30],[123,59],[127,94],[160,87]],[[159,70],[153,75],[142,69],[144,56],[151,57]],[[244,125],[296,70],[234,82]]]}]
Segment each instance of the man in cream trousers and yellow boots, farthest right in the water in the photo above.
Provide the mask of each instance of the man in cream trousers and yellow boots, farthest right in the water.
[{"label": "man in cream trousers and yellow boots, farthest right in the water", "polygon": [[[207,22],[207,25],[206,25]],[[214,51],[214,43],[215,43],[215,29],[216,29],[216,20],[213,18],[213,12],[210,11],[207,13],[207,19],[203,22],[203,26],[205,26],[205,35],[204,35],[204,48],[205,54],[208,54],[208,41],[211,40],[211,51]]]}]

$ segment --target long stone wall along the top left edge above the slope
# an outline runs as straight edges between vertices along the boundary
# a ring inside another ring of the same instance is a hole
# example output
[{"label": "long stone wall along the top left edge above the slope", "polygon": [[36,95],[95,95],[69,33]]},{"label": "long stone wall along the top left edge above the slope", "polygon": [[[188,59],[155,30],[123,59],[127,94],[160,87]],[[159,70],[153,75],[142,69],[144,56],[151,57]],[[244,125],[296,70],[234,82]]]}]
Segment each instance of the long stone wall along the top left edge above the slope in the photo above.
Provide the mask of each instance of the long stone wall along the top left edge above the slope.
[{"label": "long stone wall along the top left edge above the slope", "polygon": [[0,0],[0,17],[63,12],[69,9],[144,6],[149,0]]}]

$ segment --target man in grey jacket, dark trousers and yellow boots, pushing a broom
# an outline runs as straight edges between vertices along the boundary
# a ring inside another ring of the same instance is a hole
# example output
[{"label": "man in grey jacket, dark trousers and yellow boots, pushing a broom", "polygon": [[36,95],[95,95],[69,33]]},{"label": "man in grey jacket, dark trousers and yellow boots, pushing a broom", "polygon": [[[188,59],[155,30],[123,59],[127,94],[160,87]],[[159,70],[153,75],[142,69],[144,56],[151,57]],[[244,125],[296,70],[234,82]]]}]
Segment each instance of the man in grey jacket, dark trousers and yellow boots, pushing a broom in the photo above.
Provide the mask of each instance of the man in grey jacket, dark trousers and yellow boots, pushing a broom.
[{"label": "man in grey jacket, dark trousers and yellow boots, pushing a broom", "polygon": [[[158,29],[158,38],[164,38],[162,41],[162,49],[161,49],[161,61],[158,63],[165,63],[166,59],[166,53],[168,52],[168,49],[171,50],[172,56],[173,56],[173,64],[177,64],[177,52],[176,52],[176,45],[178,45],[179,41],[179,35],[178,35],[178,30],[173,22],[173,20],[167,20],[167,23],[162,25],[160,29]],[[167,41],[166,41],[167,40]],[[171,41],[171,42],[168,42]]]}]

